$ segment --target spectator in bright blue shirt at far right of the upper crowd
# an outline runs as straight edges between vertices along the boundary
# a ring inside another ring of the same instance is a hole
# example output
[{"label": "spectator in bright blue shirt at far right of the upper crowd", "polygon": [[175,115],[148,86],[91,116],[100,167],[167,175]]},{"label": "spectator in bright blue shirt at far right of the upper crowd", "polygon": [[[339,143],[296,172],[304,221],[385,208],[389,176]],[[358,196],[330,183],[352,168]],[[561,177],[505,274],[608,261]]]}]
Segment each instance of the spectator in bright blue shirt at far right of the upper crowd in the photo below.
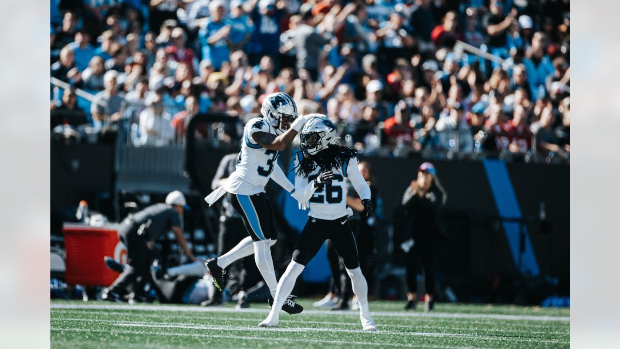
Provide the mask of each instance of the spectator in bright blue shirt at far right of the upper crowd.
[{"label": "spectator in bright blue shirt at far right of the upper crowd", "polygon": [[[555,68],[551,58],[545,53],[546,37],[543,32],[536,32],[532,37],[532,46],[523,60],[528,73],[529,88],[536,94],[544,92],[547,76],[551,75]],[[537,96],[540,97],[540,96]]]}]

